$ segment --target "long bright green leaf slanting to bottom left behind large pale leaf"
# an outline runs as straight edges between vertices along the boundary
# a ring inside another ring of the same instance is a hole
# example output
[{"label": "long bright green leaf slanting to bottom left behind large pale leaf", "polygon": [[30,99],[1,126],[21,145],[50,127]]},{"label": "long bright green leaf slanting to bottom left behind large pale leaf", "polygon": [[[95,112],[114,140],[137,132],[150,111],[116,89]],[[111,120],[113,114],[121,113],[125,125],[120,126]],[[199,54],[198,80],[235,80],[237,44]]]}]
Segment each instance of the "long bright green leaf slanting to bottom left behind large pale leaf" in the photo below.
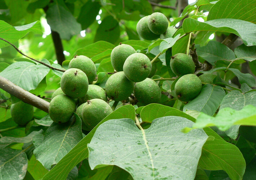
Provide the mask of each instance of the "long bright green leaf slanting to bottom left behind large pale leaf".
[{"label": "long bright green leaf slanting to bottom left behind large pale leaf", "polygon": [[92,129],[78,144],[66,154],[44,177],[43,180],[65,180],[69,171],[83,159],[88,157],[87,144],[91,141],[96,129],[109,119],[135,118],[135,109],[132,105],[121,106],[105,117]]}]

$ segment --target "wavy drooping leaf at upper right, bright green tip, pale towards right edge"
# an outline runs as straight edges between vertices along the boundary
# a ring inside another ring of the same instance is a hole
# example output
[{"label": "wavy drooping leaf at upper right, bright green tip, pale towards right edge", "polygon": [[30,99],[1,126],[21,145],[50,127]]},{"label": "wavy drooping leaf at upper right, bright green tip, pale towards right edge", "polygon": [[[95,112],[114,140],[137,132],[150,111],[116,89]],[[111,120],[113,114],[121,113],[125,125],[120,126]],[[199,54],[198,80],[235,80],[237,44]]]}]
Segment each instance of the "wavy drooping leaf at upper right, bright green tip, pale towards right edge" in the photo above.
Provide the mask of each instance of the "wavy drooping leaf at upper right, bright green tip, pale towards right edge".
[{"label": "wavy drooping leaf at upper right, bright green tip, pale towards right edge", "polygon": [[256,25],[240,19],[213,19],[199,22],[186,18],[182,24],[185,33],[193,31],[221,31],[238,35],[246,45],[256,45]]}]

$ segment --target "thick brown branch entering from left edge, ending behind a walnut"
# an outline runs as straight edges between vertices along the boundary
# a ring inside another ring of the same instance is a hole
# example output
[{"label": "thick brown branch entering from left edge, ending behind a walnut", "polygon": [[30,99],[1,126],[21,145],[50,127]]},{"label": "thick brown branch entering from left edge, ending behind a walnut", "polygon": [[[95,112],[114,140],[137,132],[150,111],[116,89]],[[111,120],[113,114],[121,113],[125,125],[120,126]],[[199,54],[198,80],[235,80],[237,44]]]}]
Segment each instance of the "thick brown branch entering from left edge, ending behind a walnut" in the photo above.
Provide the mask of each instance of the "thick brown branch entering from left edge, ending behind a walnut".
[{"label": "thick brown branch entering from left edge, ending behind a walnut", "polygon": [[26,102],[27,104],[35,106],[38,109],[41,109],[48,113],[49,104],[50,104],[48,101],[45,101],[40,97],[33,95],[32,93],[26,91],[25,89],[22,89],[21,87],[10,82],[8,79],[5,79],[2,76],[0,76],[0,88],[10,93],[11,95],[16,96],[23,102]]}]

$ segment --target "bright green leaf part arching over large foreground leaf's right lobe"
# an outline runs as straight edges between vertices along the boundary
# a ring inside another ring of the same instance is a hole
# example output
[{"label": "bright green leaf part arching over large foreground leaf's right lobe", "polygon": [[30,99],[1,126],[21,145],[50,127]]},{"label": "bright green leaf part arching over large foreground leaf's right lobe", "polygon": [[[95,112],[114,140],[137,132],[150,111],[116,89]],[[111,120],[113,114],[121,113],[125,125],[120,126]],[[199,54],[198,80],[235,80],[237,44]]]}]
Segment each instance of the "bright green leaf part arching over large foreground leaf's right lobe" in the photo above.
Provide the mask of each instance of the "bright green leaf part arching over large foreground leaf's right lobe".
[{"label": "bright green leaf part arching over large foreground leaf's right lobe", "polygon": [[161,104],[149,104],[145,106],[140,112],[140,117],[142,121],[151,123],[154,119],[164,117],[164,116],[178,116],[187,118],[193,122],[195,119],[190,115],[183,113],[182,111],[175,109],[173,107],[164,106]]}]

